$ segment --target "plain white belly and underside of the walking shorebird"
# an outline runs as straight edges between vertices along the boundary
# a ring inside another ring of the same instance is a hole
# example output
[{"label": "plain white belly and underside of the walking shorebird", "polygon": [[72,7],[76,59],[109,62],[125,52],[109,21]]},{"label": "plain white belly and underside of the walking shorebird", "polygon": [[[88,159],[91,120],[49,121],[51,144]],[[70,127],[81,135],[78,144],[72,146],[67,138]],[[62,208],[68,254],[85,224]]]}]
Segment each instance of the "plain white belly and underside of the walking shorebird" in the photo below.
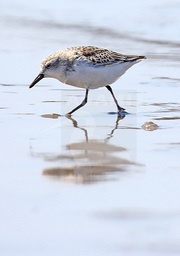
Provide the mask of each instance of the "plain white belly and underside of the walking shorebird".
[{"label": "plain white belly and underside of the walking shorebird", "polygon": [[89,64],[75,65],[76,71],[72,71],[65,84],[70,84],[75,87],[96,89],[99,87],[113,84],[121,77],[130,67],[138,61],[123,62],[102,67],[90,66]]}]

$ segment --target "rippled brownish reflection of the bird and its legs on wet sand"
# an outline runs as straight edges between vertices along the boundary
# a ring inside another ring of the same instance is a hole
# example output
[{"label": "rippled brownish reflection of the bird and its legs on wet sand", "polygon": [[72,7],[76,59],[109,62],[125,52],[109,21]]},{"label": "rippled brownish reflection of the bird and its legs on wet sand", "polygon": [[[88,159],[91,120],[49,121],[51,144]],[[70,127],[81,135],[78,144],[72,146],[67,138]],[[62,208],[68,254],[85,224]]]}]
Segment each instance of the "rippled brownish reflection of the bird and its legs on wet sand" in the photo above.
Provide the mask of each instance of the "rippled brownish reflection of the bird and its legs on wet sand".
[{"label": "rippled brownish reflection of the bird and its legs on wet sand", "polygon": [[110,173],[126,171],[128,165],[134,164],[129,160],[125,148],[109,142],[124,116],[118,116],[115,127],[103,140],[89,139],[87,129],[79,126],[72,117],[67,118],[74,128],[84,131],[84,140],[66,145],[63,154],[45,155],[43,158],[46,161],[56,162],[58,166],[43,169],[42,175],[69,183],[86,184],[114,179]]}]

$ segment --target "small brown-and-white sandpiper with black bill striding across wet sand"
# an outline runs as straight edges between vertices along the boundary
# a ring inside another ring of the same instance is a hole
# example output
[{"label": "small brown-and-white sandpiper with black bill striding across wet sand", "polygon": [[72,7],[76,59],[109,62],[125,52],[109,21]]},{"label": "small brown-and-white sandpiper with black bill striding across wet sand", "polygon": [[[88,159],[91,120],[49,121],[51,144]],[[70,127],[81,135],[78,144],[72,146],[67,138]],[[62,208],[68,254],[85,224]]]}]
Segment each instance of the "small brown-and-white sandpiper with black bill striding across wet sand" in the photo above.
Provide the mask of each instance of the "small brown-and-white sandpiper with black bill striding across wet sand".
[{"label": "small brown-and-white sandpiper with black bill striding across wet sand", "polygon": [[32,88],[44,77],[56,78],[64,84],[85,88],[84,100],[79,106],[66,114],[70,116],[87,103],[87,95],[90,89],[105,86],[113,96],[118,114],[125,114],[127,112],[118,105],[110,84],[113,84],[134,64],[144,59],[146,59],[146,56],[124,55],[93,46],[70,47],[45,57],[41,62],[39,75],[30,84],[29,88]]}]

